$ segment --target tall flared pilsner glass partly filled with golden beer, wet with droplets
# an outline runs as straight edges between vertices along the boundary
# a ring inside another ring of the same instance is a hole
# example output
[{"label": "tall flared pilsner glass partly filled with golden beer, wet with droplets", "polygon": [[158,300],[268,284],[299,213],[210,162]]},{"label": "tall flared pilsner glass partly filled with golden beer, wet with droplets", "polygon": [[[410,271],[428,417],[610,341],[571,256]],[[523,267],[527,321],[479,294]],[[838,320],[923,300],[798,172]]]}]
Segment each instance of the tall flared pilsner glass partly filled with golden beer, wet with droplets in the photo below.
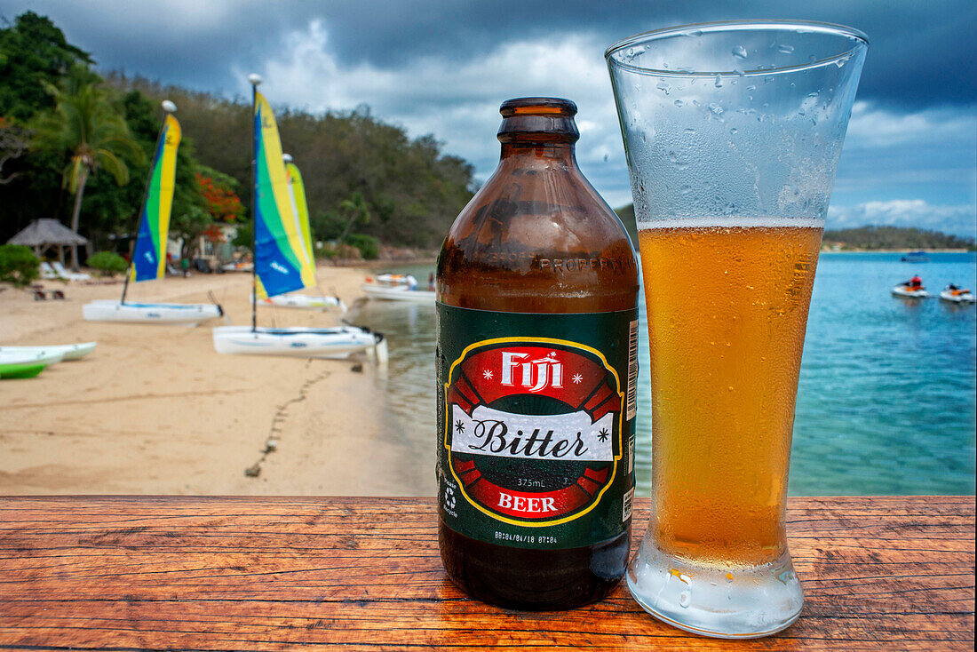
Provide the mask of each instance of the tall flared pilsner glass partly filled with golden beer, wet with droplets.
[{"label": "tall flared pilsner glass partly filled with golden beer, wet with droplets", "polygon": [[641,605],[730,638],[789,626],[794,399],[838,155],[868,40],[716,22],[607,52],[640,232],[652,381]]}]

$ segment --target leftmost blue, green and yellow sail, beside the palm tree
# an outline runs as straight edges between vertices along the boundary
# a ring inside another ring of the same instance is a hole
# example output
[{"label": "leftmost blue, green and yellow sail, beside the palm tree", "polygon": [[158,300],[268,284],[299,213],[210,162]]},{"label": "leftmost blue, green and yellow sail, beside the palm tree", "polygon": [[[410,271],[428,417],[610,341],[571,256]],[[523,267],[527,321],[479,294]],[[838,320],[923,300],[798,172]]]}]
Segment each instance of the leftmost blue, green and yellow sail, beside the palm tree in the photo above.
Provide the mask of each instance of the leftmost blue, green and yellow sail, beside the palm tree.
[{"label": "leftmost blue, green and yellow sail, beside the palm tree", "polygon": [[166,238],[170,230],[173,188],[177,173],[177,149],[180,147],[180,123],[166,114],[156,143],[156,155],[149,169],[149,190],[139,223],[139,236],[133,250],[131,279],[152,281],[166,269]]}]

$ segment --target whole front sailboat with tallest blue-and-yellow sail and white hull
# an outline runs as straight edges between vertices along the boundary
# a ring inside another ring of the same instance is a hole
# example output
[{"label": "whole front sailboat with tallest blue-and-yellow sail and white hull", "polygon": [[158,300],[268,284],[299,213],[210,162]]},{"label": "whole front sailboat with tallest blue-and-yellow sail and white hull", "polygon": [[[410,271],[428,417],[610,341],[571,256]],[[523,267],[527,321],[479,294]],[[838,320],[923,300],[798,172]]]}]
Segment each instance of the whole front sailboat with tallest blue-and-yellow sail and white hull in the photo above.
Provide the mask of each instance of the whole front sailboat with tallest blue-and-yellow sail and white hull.
[{"label": "whole front sailboat with tallest blue-and-yellow sail and white hull", "polygon": [[270,328],[257,325],[259,299],[312,287],[316,284],[316,274],[288,195],[275,114],[258,92],[261,77],[252,74],[248,81],[251,82],[254,129],[251,326],[215,327],[214,349],[218,353],[298,358],[345,358],[352,353],[372,350],[377,361],[384,362],[387,343],[382,334],[368,328]]}]

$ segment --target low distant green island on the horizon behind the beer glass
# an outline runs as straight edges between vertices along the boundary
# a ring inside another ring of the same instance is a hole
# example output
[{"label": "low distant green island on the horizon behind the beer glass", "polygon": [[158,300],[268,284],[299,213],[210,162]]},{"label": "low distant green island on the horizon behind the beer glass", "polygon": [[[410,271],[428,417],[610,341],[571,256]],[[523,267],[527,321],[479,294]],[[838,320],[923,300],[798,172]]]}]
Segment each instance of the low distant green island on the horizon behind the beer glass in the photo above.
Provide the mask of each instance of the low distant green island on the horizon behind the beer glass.
[{"label": "low distant green island on the horizon behind the beer glass", "polygon": [[[634,205],[617,208],[617,216],[637,242],[638,228],[634,218]],[[973,238],[959,238],[939,231],[925,231],[911,227],[865,226],[858,229],[838,229],[825,232],[822,240],[827,251],[910,251],[917,249],[977,249]]]}]

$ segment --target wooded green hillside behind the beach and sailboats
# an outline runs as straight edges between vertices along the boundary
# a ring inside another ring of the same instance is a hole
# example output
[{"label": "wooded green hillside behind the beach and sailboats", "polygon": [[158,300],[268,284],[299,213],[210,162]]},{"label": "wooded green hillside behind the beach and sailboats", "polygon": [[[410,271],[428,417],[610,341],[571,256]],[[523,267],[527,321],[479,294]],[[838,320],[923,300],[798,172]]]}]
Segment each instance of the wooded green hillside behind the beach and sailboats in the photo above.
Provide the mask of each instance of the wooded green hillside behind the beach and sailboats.
[{"label": "wooded green hillside behind the beach and sailboats", "polygon": [[[41,142],[38,134],[55,113],[58,92],[73,90],[78,78],[106,97],[141,151],[120,154],[128,183],[119,185],[102,168],[87,180],[78,232],[93,240],[93,250],[136,229],[163,99],[176,103],[183,128],[174,235],[208,236],[217,233],[215,224],[246,220],[250,100],[119,73],[102,75],[95,56],[67,43],[54,23],[32,12],[0,26],[0,242],[36,218],[71,222],[74,196],[63,183],[70,152],[50,145],[51,139]],[[275,98],[269,100],[275,106]],[[435,248],[472,196],[471,165],[443,153],[433,136],[411,139],[366,107],[320,114],[276,107],[276,112],[283,150],[302,172],[316,239],[336,239],[351,225],[350,236]],[[23,143],[26,148],[18,147]],[[228,210],[229,205],[236,208]]]}]

